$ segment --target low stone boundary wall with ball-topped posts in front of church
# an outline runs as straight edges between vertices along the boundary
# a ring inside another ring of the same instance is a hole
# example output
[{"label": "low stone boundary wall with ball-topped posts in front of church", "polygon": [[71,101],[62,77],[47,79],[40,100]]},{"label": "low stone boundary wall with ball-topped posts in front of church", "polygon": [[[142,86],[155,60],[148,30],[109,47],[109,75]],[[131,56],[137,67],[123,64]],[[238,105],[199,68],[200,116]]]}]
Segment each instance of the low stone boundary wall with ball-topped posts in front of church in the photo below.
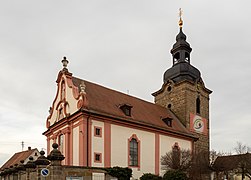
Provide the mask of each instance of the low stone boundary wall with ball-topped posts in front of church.
[{"label": "low stone boundary wall with ball-topped posts in front of church", "polygon": [[[40,152],[41,156],[36,161],[30,157],[27,164],[20,163],[15,167],[5,169],[0,172],[0,180],[67,180],[72,178],[79,179],[112,179],[102,168],[89,168],[83,166],[62,166],[61,161],[64,156],[58,150],[58,145],[53,144],[53,150],[47,156]],[[48,169],[48,176],[41,175],[42,169]],[[114,178],[113,178],[114,179]]]}]

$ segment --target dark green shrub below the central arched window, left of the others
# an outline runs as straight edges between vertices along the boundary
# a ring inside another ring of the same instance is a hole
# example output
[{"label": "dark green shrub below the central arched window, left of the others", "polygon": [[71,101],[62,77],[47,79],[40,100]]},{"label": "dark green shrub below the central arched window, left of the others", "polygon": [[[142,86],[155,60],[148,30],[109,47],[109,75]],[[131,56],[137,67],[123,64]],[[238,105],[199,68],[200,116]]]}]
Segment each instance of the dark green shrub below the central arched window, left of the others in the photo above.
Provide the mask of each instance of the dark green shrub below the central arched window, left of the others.
[{"label": "dark green shrub below the central arched window, left of the others", "polygon": [[112,168],[106,168],[107,173],[112,176],[118,178],[118,180],[129,180],[130,177],[132,177],[132,170],[128,167],[122,168],[122,167],[112,167]]}]

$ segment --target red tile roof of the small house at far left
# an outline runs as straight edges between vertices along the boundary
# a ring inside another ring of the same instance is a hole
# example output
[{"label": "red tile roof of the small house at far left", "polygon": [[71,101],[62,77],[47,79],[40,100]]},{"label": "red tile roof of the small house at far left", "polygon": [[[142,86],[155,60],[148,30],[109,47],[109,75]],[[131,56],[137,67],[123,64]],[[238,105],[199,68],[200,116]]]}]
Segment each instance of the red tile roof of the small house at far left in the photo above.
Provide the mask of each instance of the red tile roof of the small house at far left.
[{"label": "red tile roof of the small house at far left", "polygon": [[15,153],[1,168],[0,170],[4,170],[5,168],[9,168],[10,166],[14,166],[15,164],[20,164],[21,160],[28,159],[35,151],[38,151],[35,149],[30,149],[27,151],[22,151]]}]

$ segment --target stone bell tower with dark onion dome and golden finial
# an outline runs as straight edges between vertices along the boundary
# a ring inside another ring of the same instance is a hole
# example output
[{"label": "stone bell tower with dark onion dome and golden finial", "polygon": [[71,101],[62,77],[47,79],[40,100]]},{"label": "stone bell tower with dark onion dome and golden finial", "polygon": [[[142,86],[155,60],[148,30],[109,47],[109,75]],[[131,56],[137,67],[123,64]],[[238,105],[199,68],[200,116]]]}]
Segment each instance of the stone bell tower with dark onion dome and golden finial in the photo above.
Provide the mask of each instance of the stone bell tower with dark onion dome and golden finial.
[{"label": "stone bell tower with dark onion dome and golden finial", "polygon": [[168,108],[191,132],[198,135],[195,151],[209,152],[209,95],[200,71],[191,65],[192,48],[182,31],[183,21],[179,20],[179,33],[171,49],[171,68],[164,73],[163,85],[153,93],[155,103]]}]

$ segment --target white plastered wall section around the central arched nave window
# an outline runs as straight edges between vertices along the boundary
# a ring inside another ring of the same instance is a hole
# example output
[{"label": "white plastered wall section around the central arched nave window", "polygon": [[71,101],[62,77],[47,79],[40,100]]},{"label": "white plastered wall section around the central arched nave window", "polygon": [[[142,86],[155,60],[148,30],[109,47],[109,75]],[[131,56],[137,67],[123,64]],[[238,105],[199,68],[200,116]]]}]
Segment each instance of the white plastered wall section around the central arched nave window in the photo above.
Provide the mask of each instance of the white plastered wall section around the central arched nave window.
[{"label": "white plastered wall section around the central arched nave window", "polygon": [[140,141],[140,168],[132,168],[133,178],[155,172],[155,134],[138,129],[111,126],[111,166],[128,166],[128,139],[136,134]]}]

